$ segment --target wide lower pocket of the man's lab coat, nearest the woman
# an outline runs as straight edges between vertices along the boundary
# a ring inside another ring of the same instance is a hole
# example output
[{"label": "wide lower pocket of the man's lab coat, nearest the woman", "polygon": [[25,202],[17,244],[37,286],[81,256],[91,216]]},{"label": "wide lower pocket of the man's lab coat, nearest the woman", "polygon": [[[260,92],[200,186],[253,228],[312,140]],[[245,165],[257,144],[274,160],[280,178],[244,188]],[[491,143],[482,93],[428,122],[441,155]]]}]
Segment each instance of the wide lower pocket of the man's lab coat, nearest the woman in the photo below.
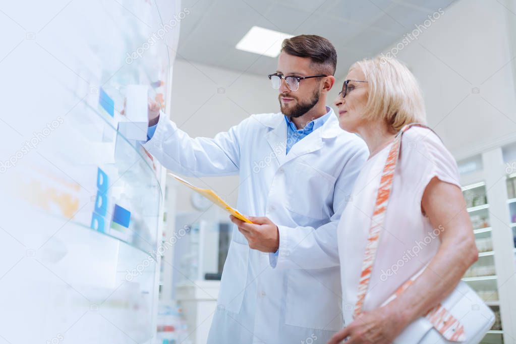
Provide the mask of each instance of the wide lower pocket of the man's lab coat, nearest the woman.
[{"label": "wide lower pocket of the man's lab coat, nearest the woman", "polygon": [[289,270],[285,324],[338,331],[343,327],[340,268]]}]

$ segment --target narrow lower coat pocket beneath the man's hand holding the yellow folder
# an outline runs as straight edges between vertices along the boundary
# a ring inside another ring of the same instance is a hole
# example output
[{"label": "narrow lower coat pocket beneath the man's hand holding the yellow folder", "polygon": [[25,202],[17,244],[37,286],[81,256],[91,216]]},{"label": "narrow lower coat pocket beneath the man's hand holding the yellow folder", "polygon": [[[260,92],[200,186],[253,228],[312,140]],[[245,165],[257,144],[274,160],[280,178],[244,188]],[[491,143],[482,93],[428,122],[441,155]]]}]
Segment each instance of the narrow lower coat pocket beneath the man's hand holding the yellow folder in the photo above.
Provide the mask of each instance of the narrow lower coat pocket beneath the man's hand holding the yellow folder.
[{"label": "narrow lower coat pocket beneath the man's hand holding the yellow folder", "polygon": [[217,307],[228,312],[240,312],[247,284],[249,246],[231,241],[222,270]]}]

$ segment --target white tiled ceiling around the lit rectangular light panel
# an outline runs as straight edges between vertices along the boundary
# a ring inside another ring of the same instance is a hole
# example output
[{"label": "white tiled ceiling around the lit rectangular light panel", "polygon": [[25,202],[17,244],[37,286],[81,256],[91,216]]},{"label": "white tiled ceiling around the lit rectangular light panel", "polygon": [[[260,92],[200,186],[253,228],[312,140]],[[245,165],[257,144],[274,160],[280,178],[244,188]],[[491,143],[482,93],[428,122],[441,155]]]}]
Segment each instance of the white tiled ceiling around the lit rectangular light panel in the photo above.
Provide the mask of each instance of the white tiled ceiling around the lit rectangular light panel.
[{"label": "white tiled ceiling around the lit rectangular light panel", "polygon": [[276,58],[235,48],[253,26],[328,38],[337,50],[336,77],[351,63],[400,41],[429,14],[455,0],[183,0],[177,58],[266,75]]}]

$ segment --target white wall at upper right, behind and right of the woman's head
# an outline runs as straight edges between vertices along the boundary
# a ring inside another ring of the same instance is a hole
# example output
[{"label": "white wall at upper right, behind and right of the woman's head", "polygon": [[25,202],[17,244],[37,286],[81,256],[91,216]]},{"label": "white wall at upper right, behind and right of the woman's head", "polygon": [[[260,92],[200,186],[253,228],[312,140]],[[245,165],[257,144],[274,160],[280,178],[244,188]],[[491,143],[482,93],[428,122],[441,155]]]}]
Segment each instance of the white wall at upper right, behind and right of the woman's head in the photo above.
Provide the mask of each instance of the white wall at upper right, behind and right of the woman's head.
[{"label": "white wall at upper right, behind and right of the woman's head", "polygon": [[457,158],[516,140],[511,1],[458,1],[397,54],[421,83],[429,125]]}]

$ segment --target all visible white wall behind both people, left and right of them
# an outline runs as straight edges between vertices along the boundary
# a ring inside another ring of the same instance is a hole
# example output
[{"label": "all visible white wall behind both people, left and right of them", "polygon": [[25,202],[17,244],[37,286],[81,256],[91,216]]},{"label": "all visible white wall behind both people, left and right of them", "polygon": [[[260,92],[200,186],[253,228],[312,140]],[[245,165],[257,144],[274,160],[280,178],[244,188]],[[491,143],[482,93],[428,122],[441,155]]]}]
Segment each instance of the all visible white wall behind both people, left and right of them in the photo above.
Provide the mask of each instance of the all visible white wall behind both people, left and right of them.
[{"label": "all visible white wall behind both people, left and right of them", "polygon": [[[516,140],[514,47],[509,45],[514,27],[516,15],[496,0],[460,0],[397,54],[420,81],[429,125],[458,159]],[[279,111],[267,72],[240,74],[176,59],[172,119],[192,137],[213,137],[251,113]],[[329,105],[342,81],[331,91]],[[224,93],[218,93],[220,87]],[[237,177],[202,181],[236,205]],[[190,193],[179,190],[178,211],[193,210]]]}]

